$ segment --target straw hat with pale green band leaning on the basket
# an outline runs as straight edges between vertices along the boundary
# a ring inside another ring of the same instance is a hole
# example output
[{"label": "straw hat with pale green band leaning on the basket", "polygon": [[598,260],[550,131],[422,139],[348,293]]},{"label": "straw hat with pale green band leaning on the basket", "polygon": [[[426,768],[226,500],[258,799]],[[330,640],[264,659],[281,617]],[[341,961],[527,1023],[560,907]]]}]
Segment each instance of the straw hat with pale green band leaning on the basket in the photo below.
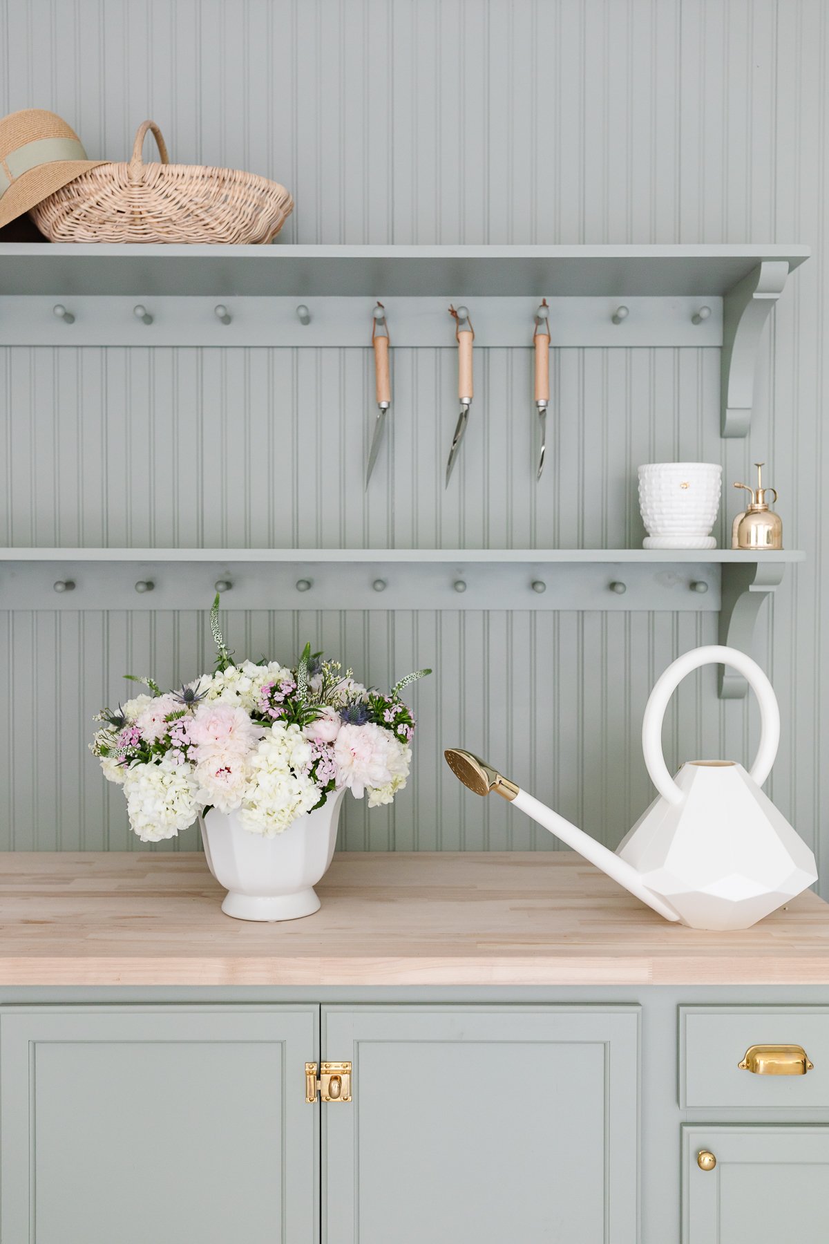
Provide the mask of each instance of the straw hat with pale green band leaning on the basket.
[{"label": "straw hat with pale green band leaning on the basket", "polygon": [[108,163],[87,159],[78,136],[53,112],[10,112],[0,121],[0,226],[88,168]]}]

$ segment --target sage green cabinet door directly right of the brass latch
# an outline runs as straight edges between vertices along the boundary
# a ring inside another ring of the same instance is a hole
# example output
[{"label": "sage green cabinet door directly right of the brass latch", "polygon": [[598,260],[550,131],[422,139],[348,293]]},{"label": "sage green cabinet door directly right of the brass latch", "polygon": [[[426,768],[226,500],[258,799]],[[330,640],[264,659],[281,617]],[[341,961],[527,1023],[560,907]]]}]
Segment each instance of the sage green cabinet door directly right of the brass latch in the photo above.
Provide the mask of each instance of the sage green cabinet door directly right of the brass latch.
[{"label": "sage green cabinet door directly right of the brass latch", "polygon": [[323,1006],[326,1244],[635,1244],[638,1008]]}]

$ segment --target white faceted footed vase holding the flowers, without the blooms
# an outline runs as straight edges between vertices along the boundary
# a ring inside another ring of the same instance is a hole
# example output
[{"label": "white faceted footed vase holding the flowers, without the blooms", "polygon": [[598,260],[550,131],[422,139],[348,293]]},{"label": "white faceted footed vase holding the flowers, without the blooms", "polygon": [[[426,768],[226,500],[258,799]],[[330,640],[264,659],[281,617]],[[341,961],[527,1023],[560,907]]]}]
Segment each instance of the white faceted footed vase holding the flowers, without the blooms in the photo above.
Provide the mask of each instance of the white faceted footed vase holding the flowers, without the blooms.
[{"label": "white faceted footed vase holding the flowers, without the blooms", "polygon": [[344,791],[293,821],[272,838],[239,824],[237,812],[215,807],[199,817],[208,867],[227,893],[225,916],[240,921],[296,921],[319,911],[314,886],[327,872],[337,842]]}]

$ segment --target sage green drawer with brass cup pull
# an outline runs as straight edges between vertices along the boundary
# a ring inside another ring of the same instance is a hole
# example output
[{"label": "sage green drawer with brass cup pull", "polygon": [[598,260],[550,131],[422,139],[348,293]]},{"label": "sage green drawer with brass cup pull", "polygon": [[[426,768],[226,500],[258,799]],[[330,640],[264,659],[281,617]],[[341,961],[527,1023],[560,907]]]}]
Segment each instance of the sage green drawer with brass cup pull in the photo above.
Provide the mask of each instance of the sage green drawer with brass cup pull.
[{"label": "sage green drawer with brass cup pull", "polygon": [[[751,1046],[798,1045],[813,1067],[769,1075],[740,1067]],[[680,1006],[680,1106],[829,1112],[829,1006]]]}]

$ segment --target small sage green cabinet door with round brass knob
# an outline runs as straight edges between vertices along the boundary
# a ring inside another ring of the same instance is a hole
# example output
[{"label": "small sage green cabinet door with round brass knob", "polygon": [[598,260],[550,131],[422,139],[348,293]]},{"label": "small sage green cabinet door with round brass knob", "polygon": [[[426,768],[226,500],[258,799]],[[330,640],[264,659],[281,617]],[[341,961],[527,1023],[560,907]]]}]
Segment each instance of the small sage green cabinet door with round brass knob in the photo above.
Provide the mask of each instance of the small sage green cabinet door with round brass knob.
[{"label": "small sage green cabinet door with round brass knob", "polygon": [[694,1125],[682,1162],[682,1244],[827,1244],[829,1127]]}]

